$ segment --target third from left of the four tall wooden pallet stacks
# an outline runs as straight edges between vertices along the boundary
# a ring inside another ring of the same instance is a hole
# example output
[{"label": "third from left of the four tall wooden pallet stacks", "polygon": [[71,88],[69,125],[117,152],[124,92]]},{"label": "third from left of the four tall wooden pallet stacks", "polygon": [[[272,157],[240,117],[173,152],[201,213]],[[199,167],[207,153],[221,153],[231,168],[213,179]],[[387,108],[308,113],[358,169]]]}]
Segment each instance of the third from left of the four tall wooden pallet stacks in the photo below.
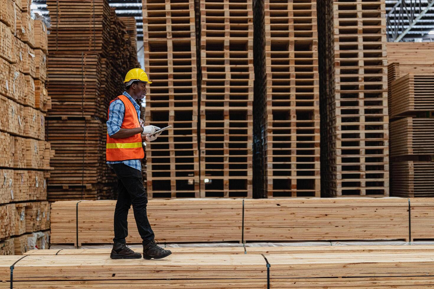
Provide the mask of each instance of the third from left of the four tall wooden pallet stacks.
[{"label": "third from left of the four tall wooden pallet stacks", "polygon": [[255,195],[319,197],[316,0],[261,0],[254,10]]}]

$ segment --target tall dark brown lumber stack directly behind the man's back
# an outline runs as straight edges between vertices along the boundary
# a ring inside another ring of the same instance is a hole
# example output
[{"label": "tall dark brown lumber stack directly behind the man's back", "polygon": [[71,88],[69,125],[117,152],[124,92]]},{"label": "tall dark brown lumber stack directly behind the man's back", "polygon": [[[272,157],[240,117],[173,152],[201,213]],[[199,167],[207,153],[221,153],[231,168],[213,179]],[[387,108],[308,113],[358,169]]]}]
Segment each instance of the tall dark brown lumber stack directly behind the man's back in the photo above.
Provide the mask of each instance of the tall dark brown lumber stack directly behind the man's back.
[{"label": "tall dark brown lumber stack directly behind the man's back", "polygon": [[[105,122],[109,102],[124,91],[125,73],[138,65],[131,32],[107,0],[48,0],[47,8],[53,103],[46,135],[57,149],[48,199],[113,198],[114,175],[105,165]],[[43,97],[44,91],[37,90]]]}]

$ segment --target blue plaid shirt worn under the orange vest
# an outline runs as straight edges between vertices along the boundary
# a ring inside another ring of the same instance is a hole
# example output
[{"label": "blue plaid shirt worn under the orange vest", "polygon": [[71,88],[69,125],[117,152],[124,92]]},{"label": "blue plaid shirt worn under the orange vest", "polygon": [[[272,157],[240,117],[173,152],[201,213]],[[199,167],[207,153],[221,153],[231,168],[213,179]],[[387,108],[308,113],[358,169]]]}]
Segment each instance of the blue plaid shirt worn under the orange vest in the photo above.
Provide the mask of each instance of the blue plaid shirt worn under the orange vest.
[{"label": "blue plaid shirt worn under the orange vest", "polygon": [[[140,106],[126,91],[124,91],[123,95],[128,97],[128,99],[132,102],[132,104],[134,104],[134,107],[137,110],[137,116],[140,119]],[[109,136],[112,136],[113,134],[117,133],[121,129],[122,122],[124,121],[124,115],[125,115],[124,103],[120,99],[113,101],[110,104],[109,120],[107,120],[107,133],[109,134]],[[128,159],[125,161],[107,162],[109,167],[111,167],[110,166],[111,164],[115,164],[115,163],[124,163],[127,166],[130,166],[134,169],[138,169],[139,171],[141,171],[140,159]]]}]

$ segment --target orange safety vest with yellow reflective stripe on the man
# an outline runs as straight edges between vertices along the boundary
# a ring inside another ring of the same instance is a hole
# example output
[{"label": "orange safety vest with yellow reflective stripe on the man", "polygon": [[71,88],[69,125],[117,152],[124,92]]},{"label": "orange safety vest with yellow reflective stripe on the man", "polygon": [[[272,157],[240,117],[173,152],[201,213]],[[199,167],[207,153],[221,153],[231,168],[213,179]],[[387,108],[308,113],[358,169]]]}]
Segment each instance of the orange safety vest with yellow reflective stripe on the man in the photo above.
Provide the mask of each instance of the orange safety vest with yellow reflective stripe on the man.
[{"label": "orange safety vest with yellow reflective stripe on the man", "polygon": [[[137,110],[135,110],[134,104],[132,104],[128,97],[123,94],[110,101],[110,104],[116,99],[120,99],[125,106],[125,115],[121,128],[131,129],[140,127],[140,121],[138,120]],[[105,146],[106,159],[107,161],[143,159],[145,157],[145,153],[143,152],[141,143],[142,140],[140,133],[121,139],[111,138],[107,133],[107,145]]]}]

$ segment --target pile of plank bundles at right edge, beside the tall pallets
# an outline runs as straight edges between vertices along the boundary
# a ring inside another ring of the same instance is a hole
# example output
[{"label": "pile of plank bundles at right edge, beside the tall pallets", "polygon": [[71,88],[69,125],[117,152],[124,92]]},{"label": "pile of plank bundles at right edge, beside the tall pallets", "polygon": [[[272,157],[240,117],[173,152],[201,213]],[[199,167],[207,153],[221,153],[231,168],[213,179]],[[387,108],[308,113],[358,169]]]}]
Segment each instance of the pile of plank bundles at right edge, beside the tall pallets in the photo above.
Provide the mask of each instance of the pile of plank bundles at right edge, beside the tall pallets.
[{"label": "pile of plank bundles at right edge, beside the tall pallets", "polygon": [[431,197],[433,43],[388,43],[391,194]]}]

